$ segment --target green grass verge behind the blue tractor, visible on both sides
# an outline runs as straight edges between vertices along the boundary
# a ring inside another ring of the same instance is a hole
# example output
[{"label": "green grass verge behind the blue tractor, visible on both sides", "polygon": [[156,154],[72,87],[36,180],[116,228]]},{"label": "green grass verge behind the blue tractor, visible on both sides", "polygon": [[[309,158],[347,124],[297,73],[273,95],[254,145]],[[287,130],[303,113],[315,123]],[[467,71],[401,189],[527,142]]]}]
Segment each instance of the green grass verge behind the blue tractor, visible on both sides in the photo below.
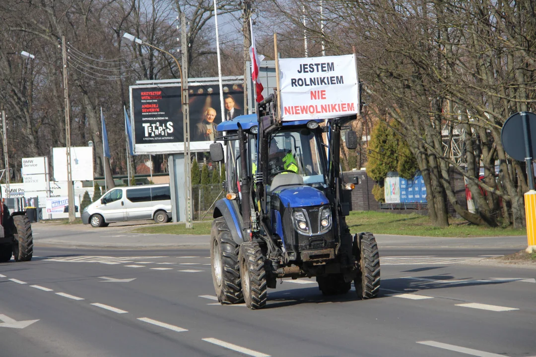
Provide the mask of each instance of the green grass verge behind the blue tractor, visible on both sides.
[{"label": "green grass verge behind the blue tractor, visible on both sides", "polygon": [[[467,224],[461,219],[450,219],[446,228],[431,225],[427,216],[418,214],[398,215],[374,211],[354,211],[346,217],[351,232],[373,232],[375,234],[398,234],[401,236],[428,237],[500,237],[524,236],[526,231],[507,228],[489,228]],[[210,234],[211,222],[193,224],[186,229],[184,223],[140,227],[133,232],[153,234]]]}]

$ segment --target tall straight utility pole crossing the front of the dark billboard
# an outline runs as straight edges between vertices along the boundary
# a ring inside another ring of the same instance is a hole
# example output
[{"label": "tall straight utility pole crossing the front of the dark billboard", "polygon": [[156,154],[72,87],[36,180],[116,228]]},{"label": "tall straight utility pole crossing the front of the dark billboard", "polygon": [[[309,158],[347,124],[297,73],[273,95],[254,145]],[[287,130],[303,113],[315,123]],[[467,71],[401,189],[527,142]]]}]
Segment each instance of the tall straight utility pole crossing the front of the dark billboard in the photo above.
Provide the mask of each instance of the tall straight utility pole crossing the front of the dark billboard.
[{"label": "tall straight utility pole crossing the front of the dark billboard", "polygon": [[184,128],[184,199],[186,201],[186,227],[192,225],[192,177],[190,163],[190,105],[188,102],[188,33],[186,15],[181,13],[181,59],[182,59],[182,122]]}]

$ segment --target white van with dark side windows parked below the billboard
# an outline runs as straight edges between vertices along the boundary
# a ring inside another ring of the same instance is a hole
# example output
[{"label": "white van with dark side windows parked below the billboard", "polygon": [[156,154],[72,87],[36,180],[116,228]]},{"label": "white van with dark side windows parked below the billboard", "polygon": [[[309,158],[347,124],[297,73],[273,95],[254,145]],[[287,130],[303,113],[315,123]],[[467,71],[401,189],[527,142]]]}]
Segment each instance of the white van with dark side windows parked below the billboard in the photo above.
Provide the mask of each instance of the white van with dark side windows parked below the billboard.
[{"label": "white van with dark side windows parked below the billboard", "polygon": [[169,184],[115,187],[84,209],[82,222],[93,227],[139,219],[166,223],[171,215]]}]

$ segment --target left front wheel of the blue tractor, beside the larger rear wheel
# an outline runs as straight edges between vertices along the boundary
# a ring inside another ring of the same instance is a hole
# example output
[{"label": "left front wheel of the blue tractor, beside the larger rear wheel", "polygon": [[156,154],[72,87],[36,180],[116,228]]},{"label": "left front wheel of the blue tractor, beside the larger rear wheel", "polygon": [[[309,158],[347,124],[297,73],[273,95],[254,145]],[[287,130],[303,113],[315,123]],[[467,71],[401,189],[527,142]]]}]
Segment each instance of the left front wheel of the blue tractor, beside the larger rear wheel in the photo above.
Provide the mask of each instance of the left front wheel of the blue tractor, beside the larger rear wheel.
[{"label": "left front wheel of the blue tractor, beside the larger rear wheel", "polygon": [[240,276],[245,306],[250,310],[266,305],[267,284],[264,256],[257,242],[244,242],[240,246]]}]

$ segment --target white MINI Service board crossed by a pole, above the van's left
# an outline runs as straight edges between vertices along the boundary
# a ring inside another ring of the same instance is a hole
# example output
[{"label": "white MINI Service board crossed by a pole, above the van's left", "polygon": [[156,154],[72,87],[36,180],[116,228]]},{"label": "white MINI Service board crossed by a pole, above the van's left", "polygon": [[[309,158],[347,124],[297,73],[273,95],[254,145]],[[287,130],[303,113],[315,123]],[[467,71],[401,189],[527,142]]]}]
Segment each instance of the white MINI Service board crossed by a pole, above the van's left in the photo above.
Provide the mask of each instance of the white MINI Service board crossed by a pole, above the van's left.
[{"label": "white MINI Service board crossed by a pole, above the van's left", "polygon": [[[53,169],[56,181],[67,180],[67,155],[65,148],[53,148]],[[73,181],[93,180],[93,148],[71,148],[71,175]]]}]

